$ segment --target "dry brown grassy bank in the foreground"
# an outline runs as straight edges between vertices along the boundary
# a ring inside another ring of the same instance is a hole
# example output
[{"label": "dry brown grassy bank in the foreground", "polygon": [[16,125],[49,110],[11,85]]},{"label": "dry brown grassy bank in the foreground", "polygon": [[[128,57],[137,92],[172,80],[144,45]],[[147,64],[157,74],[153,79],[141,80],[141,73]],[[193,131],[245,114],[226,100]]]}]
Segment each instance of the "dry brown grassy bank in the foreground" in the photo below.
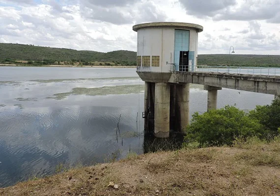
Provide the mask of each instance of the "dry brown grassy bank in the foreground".
[{"label": "dry brown grassy bank in the foreground", "polygon": [[[279,196],[280,142],[129,156],[0,189],[1,196]],[[118,189],[108,187],[109,183]]]}]

